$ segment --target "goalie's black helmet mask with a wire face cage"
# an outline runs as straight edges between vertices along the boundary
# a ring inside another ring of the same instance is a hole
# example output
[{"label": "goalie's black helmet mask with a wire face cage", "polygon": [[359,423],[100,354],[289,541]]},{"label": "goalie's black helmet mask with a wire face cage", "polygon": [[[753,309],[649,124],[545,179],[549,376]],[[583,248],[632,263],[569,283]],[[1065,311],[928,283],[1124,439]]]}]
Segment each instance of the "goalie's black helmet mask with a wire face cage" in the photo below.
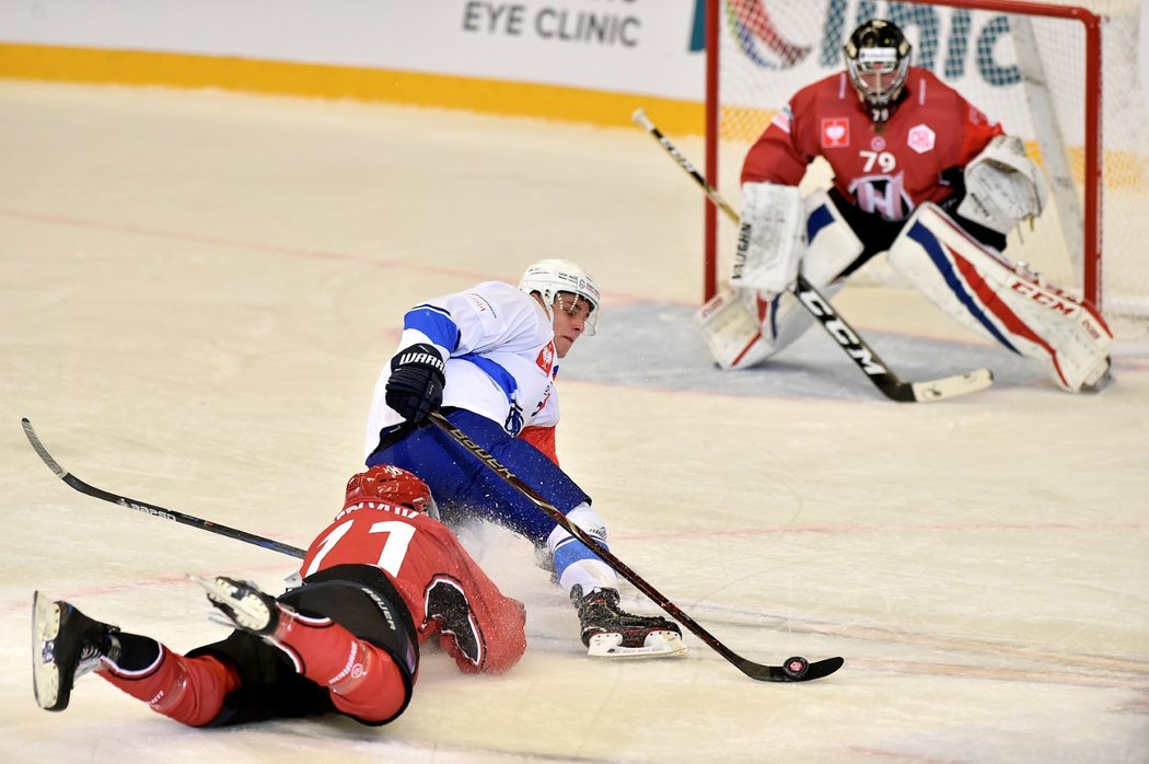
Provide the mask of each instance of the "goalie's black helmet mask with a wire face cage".
[{"label": "goalie's black helmet mask with a wire face cage", "polygon": [[846,43],[846,71],[874,122],[897,106],[910,70],[910,44],[888,21],[874,18],[854,30]]}]

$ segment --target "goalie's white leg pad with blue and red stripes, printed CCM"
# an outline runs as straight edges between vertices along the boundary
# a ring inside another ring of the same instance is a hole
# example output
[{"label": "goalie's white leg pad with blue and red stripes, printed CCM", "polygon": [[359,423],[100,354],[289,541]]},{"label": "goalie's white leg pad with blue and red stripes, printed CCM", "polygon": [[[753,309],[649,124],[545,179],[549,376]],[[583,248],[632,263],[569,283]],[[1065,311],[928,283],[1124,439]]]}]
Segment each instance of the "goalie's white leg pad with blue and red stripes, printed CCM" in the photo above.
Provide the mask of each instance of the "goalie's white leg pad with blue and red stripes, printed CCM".
[{"label": "goalie's white leg pad with blue and red stripes, printed CCM", "polygon": [[910,216],[889,263],[964,326],[1041,363],[1063,389],[1105,378],[1113,334],[1101,315],[1020,272],[936,206]]}]

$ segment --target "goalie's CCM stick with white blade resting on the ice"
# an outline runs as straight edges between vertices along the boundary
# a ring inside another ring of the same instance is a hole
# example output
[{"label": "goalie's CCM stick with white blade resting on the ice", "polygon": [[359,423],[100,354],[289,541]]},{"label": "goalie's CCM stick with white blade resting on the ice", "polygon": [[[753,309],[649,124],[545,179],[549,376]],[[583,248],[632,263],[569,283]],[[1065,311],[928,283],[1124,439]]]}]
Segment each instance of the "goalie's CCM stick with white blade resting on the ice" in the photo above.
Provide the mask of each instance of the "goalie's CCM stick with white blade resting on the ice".
[{"label": "goalie's CCM stick with white blade resting on the ice", "polygon": [[[707,179],[702,177],[702,173],[697,171],[691,161],[670,142],[670,139],[658,130],[646,115],[646,111],[635,109],[631,118],[666,149],[666,153],[678,162],[678,165],[702,187],[710,201],[737,225],[739,214],[723,199],[717,188],[707,183]],[[905,381],[890,371],[886,362],[878,357],[873,348],[854,331],[846,319],[834,310],[834,307],[830,304],[830,300],[822,296],[804,276],[799,273],[792,290],[799,302],[802,303],[802,307],[810,311],[810,315],[822,324],[822,327],[834,338],[834,341],[846,352],[846,355],[870,378],[870,381],[881,391],[881,394],[892,401],[901,403],[940,401],[944,398],[976,393],[979,389],[989,387],[994,381],[994,375],[989,369],[974,369],[964,375],[920,383]]]}]

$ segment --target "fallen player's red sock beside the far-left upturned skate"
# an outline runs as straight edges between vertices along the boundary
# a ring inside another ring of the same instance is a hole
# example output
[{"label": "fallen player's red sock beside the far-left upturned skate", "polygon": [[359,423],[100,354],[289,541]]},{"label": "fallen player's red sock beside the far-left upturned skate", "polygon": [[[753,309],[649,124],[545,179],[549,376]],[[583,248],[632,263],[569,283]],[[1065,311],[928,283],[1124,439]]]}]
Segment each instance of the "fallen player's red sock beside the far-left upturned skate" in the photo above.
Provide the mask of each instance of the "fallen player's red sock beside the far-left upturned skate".
[{"label": "fallen player's red sock beside the far-left upturned skate", "polygon": [[211,721],[228,693],[239,688],[239,673],[218,658],[187,658],[160,646],[160,657],[140,671],[105,661],[97,673],[153,711],[192,727]]}]

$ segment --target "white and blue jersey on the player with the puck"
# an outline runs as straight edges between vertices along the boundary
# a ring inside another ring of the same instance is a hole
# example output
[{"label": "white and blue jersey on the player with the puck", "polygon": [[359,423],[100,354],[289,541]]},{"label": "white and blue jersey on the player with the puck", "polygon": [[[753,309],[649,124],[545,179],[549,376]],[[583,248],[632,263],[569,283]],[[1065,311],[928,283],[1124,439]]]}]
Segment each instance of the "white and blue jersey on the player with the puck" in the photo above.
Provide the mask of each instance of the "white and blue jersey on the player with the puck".
[{"label": "white and blue jersey on the player with the puck", "polygon": [[[429,342],[446,358],[442,406],[466,409],[501,425],[510,435],[558,423],[554,329],[534,298],[501,281],[415,306],[403,317],[396,353]],[[403,422],[385,401],[391,366],[375,385],[365,454],[379,432]]]}]

